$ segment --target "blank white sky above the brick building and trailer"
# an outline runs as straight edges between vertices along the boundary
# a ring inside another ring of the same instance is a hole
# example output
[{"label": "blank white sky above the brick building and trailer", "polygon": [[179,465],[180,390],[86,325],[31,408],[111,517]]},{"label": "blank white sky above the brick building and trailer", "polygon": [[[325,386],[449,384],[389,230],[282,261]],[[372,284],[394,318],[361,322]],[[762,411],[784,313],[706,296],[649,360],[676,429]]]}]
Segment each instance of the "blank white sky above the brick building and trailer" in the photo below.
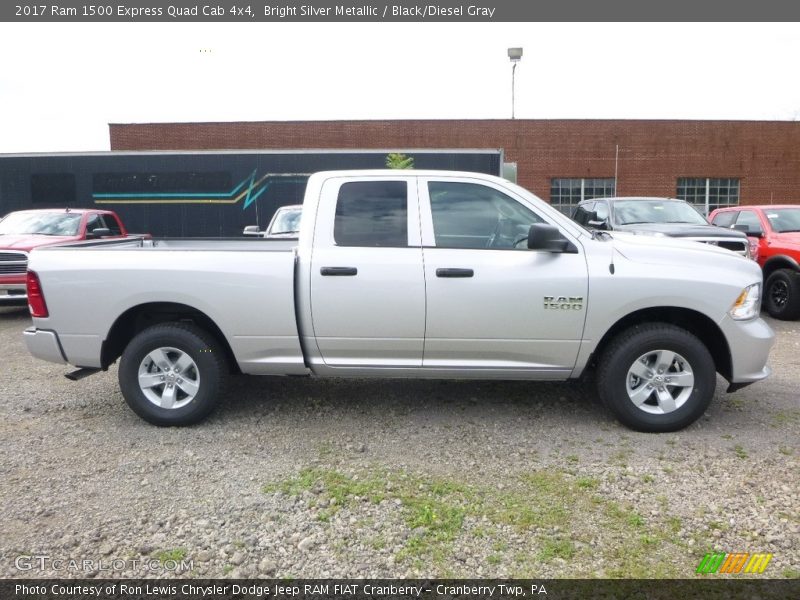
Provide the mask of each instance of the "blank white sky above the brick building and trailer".
[{"label": "blank white sky above the brick building and trailer", "polygon": [[800,120],[798,23],[0,23],[0,153],[109,123]]}]

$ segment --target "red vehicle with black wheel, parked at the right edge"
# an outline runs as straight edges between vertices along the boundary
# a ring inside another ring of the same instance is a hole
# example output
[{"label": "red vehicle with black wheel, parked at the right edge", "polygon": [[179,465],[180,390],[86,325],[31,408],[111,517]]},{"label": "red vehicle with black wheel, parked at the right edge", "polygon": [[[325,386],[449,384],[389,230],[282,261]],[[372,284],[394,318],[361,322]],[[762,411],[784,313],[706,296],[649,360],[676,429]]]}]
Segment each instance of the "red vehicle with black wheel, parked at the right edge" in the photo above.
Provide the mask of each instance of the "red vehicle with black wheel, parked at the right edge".
[{"label": "red vehicle with black wheel, parked at the right edge", "polygon": [[796,204],[720,208],[714,225],[744,231],[764,271],[763,306],[776,319],[800,318],[800,206]]}]

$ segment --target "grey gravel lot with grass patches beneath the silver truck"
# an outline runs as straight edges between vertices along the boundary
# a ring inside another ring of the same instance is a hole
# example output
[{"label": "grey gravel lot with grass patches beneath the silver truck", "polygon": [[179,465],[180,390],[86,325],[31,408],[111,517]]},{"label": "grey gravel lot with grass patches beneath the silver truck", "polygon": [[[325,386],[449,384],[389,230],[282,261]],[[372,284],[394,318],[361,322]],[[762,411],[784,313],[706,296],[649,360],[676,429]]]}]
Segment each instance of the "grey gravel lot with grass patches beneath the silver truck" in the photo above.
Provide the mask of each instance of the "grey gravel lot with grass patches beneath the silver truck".
[{"label": "grey gravel lot with grass patches beneath the silver truck", "polygon": [[661,435],[579,384],[244,377],[160,429],[28,324],[0,314],[1,577],[691,577],[710,550],[800,577],[798,322]]}]

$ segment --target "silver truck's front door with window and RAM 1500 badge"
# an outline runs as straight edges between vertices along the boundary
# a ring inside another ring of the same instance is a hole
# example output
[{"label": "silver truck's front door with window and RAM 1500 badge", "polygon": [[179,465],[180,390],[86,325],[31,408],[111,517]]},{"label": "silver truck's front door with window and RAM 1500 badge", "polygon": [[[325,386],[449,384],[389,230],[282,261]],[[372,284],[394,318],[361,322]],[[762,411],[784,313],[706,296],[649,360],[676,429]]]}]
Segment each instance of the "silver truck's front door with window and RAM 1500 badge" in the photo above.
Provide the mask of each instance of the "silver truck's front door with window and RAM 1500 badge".
[{"label": "silver truck's front door with window and RAM 1500 badge", "polygon": [[527,249],[535,210],[499,185],[419,183],[427,285],[423,365],[566,376],[587,302],[583,250]]}]

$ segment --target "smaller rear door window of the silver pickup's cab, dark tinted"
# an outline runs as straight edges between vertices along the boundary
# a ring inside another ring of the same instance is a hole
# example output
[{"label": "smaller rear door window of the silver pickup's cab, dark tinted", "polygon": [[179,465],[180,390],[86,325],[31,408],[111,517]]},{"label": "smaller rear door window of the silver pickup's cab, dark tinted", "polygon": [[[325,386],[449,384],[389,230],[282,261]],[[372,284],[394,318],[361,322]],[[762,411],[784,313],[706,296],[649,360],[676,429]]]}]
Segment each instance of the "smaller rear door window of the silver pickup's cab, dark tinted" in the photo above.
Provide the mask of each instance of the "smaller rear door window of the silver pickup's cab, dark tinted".
[{"label": "smaller rear door window of the silver pickup's cab, dark tinted", "polygon": [[408,184],[354,181],[342,185],[333,239],[338,246],[408,246]]}]

